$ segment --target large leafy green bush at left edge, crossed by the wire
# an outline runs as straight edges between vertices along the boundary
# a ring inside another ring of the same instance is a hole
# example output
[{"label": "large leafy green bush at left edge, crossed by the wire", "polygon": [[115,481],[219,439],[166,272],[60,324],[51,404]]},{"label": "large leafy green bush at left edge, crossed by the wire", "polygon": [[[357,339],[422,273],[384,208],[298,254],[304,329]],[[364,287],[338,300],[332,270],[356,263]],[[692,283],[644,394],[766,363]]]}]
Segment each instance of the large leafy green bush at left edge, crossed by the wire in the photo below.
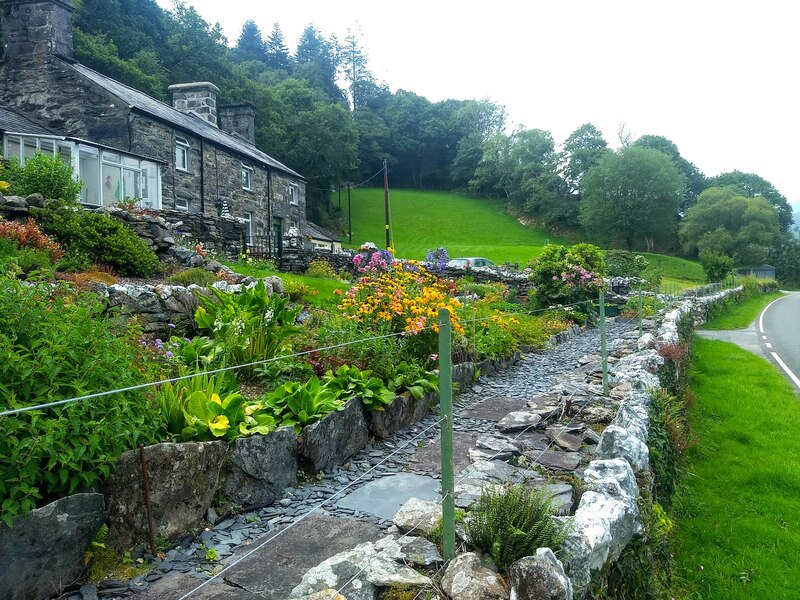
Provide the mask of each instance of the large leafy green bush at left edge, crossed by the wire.
[{"label": "large leafy green bush at left edge, crossed by the wire", "polygon": [[[0,279],[0,409],[157,379],[141,330],[105,308],[65,284]],[[0,518],[88,489],[160,430],[158,405],[142,392],[0,417]]]}]

